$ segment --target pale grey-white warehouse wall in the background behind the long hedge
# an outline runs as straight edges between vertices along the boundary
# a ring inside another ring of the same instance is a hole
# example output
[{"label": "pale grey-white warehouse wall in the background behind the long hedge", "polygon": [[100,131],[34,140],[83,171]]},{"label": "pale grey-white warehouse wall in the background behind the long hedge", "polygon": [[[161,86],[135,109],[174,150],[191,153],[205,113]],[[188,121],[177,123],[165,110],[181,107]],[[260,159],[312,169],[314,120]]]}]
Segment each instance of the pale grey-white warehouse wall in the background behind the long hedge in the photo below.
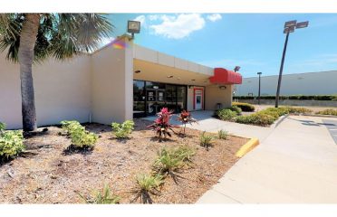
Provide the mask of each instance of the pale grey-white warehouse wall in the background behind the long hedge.
[{"label": "pale grey-white warehouse wall in the background behind the long hedge", "polygon": [[[261,95],[276,95],[278,75],[261,77]],[[337,94],[337,71],[285,74],[282,77],[281,95]],[[236,85],[236,96],[258,94],[258,77],[244,78]]]}]

